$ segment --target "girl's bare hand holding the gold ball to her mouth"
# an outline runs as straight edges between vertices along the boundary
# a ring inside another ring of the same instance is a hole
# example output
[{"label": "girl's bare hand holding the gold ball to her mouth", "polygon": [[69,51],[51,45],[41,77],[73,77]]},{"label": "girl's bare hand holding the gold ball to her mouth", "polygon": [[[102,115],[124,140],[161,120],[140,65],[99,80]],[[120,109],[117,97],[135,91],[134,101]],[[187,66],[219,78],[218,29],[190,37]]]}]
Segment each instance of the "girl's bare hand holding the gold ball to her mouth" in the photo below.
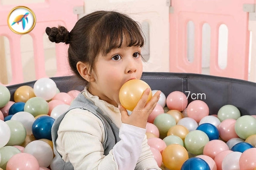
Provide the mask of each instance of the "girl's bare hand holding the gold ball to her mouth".
[{"label": "girl's bare hand holding the gold ball to her mouth", "polygon": [[147,102],[149,92],[150,88],[147,88],[143,92],[139,102],[137,103],[130,116],[128,115],[126,109],[122,107],[122,105],[118,106],[121,112],[121,120],[123,123],[146,128],[148,116],[157,105],[161,94],[161,91],[157,91],[154,96],[152,96],[152,98]]}]

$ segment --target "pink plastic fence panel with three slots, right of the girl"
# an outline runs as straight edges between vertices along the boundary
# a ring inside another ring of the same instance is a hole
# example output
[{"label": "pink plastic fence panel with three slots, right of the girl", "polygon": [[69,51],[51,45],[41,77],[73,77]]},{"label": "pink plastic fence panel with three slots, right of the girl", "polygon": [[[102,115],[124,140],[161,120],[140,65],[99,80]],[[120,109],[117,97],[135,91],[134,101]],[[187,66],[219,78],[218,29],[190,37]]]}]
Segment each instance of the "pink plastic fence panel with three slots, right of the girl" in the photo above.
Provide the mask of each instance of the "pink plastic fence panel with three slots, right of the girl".
[{"label": "pink plastic fence panel with three slots, right of the girl", "polygon": [[[170,71],[202,73],[202,27],[210,26],[209,74],[248,79],[248,12],[255,0],[172,0],[169,14]],[[187,59],[187,23],[194,23],[194,59]],[[227,65],[218,65],[219,27],[228,28]]]}]

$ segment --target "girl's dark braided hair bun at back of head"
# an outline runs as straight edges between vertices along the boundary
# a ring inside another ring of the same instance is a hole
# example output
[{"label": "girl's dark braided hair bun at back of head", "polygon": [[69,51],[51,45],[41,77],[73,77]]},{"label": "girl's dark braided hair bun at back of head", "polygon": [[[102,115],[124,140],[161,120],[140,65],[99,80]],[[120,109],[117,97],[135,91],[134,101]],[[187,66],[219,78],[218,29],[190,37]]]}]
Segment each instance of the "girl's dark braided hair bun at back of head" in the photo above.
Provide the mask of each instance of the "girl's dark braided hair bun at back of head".
[{"label": "girl's dark braided hair bun at back of head", "polygon": [[45,29],[46,34],[49,37],[49,40],[51,42],[59,43],[59,42],[65,42],[66,44],[69,44],[69,31],[64,26],[58,26],[49,28],[47,27]]}]

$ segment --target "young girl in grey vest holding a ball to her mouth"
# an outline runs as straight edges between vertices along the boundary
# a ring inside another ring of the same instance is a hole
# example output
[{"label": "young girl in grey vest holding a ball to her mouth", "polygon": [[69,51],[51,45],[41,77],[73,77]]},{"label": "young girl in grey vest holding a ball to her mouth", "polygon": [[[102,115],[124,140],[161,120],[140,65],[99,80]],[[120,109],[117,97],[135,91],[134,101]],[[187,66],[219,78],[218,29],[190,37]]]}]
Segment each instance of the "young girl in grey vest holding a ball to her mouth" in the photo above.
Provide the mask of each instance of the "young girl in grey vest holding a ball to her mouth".
[{"label": "young girl in grey vest holding a ball to her mouth", "polygon": [[160,91],[147,101],[146,89],[129,115],[119,90],[143,72],[144,40],[125,14],[96,11],[68,32],[46,28],[49,40],[69,44],[68,59],[85,88],[52,126],[52,170],[160,170],[147,144],[145,127]]}]

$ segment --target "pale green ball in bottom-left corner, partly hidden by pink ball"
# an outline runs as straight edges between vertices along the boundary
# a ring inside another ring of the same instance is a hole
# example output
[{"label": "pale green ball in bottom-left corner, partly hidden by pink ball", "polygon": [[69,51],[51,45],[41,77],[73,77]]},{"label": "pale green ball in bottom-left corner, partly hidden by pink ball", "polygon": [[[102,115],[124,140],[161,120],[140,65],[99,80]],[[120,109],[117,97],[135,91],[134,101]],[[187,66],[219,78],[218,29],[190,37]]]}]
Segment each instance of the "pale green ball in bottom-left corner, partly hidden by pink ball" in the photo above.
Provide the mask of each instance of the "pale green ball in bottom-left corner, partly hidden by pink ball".
[{"label": "pale green ball in bottom-left corner, partly hidden by pink ball", "polygon": [[6,164],[9,159],[17,153],[21,153],[19,149],[14,146],[4,146],[0,148],[1,162],[0,168],[6,169]]}]

